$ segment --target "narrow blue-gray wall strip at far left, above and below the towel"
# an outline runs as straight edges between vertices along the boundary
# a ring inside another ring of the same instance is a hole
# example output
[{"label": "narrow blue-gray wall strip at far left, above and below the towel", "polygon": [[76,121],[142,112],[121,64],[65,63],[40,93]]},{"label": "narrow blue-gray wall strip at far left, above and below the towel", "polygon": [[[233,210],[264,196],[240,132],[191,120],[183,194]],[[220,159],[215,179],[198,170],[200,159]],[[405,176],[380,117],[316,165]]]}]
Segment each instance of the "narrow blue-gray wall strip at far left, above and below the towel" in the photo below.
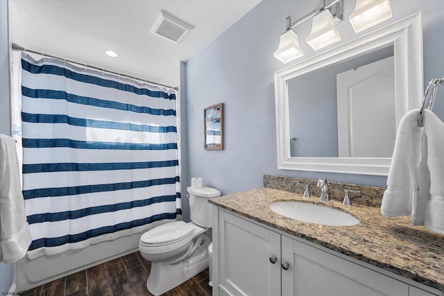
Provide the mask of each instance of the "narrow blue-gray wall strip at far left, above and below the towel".
[{"label": "narrow blue-gray wall strip at far left, above and below the towel", "polygon": [[[0,133],[11,134],[9,100],[8,2],[0,0]],[[13,265],[0,263],[0,294],[13,282]]]}]

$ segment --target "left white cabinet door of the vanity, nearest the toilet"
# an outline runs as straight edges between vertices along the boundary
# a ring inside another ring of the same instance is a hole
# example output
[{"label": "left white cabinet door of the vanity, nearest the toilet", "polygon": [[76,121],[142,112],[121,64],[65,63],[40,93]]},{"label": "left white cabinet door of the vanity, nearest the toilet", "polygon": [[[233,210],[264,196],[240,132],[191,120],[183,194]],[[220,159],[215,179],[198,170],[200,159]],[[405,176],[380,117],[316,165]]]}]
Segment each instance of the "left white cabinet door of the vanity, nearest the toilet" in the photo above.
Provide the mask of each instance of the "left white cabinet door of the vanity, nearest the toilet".
[{"label": "left white cabinet door of the vanity, nearest the toilet", "polygon": [[280,234],[219,211],[219,246],[219,284],[225,290],[280,295]]}]

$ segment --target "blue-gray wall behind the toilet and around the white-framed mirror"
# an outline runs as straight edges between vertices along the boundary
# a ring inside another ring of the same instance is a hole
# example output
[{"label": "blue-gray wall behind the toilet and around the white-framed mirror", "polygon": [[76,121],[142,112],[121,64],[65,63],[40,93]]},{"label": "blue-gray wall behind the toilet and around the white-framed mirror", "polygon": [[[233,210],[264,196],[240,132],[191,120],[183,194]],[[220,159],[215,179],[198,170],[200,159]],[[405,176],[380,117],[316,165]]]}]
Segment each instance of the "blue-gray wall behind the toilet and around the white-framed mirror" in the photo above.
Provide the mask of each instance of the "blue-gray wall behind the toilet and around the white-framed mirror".
[{"label": "blue-gray wall behind the toilet and around the white-framed mirror", "polygon": [[[187,174],[182,175],[183,182],[189,184],[189,177],[204,177],[206,186],[214,186],[223,194],[260,187],[264,174],[309,179],[322,176],[334,182],[386,186],[383,176],[277,168],[273,73],[292,63],[280,63],[273,58],[273,52],[284,32],[285,18],[291,15],[298,19],[316,8],[318,2],[263,0],[187,62],[189,168]],[[391,3],[393,18],[372,30],[422,11],[425,84],[433,77],[443,77],[444,1],[393,0]],[[345,0],[345,17],[350,15],[354,4],[355,1]],[[300,38],[305,38],[310,27],[311,21],[305,21],[295,30]],[[342,43],[368,32],[355,34],[348,20],[339,24],[338,29]],[[305,51],[302,59],[315,54],[305,42],[300,45]],[[438,96],[441,98],[437,98],[434,111],[444,119],[444,88],[438,90]],[[207,151],[203,149],[203,108],[220,102],[225,104],[225,150]]]}]

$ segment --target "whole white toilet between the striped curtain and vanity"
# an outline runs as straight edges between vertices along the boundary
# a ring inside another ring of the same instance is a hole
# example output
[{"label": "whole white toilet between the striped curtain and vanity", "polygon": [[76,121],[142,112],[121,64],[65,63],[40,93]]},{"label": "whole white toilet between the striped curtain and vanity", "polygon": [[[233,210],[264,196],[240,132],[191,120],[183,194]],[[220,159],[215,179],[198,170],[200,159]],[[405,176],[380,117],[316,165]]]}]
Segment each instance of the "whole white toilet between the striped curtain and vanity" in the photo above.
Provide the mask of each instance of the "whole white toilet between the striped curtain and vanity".
[{"label": "whole white toilet between the striped curtain and vanity", "polygon": [[174,221],[145,232],[139,251],[151,261],[146,287],[157,296],[179,286],[208,267],[212,207],[209,198],[221,192],[211,187],[188,187],[191,222]]}]

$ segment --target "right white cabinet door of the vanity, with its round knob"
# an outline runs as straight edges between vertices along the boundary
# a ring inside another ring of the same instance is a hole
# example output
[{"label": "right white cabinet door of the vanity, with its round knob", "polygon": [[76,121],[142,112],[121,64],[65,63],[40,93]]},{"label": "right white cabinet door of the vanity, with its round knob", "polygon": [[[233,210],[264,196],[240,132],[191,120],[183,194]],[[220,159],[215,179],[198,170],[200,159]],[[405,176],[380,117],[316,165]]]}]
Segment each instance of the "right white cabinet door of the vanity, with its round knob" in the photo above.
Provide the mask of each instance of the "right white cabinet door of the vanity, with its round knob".
[{"label": "right white cabinet door of the vanity, with its round knob", "polygon": [[282,236],[282,296],[406,296],[409,285]]}]

